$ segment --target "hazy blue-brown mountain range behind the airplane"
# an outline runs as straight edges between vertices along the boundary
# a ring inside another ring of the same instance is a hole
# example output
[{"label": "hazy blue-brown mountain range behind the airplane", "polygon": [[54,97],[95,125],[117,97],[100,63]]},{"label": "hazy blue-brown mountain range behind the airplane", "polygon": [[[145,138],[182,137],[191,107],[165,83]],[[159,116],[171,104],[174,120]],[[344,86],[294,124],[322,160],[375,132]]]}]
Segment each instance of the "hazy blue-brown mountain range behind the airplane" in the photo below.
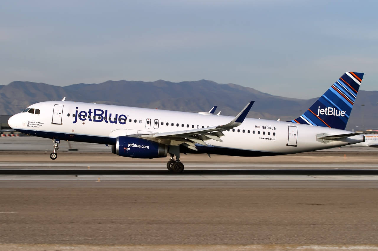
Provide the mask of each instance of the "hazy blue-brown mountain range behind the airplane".
[{"label": "hazy blue-brown mountain range behind the airplane", "polygon": [[[325,90],[324,90],[325,91]],[[291,120],[299,117],[318,98],[293,99],[270,95],[235,84],[209,80],[174,83],[165,80],[106,81],[99,84],[55,86],[14,81],[0,85],[0,114],[11,115],[27,106],[50,100],[103,103],[110,105],[200,112],[217,105],[222,115],[236,115],[249,101],[256,101],[248,117]],[[358,92],[347,129],[378,128],[378,91]]]}]

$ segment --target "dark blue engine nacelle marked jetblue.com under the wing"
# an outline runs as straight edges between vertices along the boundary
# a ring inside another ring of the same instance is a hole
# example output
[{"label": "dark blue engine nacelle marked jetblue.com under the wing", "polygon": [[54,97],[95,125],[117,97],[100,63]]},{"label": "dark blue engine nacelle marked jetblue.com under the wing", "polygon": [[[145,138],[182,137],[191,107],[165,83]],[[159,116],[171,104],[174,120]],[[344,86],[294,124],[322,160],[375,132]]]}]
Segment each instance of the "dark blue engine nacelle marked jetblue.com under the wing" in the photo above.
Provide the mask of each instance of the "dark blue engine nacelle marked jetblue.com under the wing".
[{"label": "dark blue engine nacelle marked jetblue.com under the wing", "polygon": [[120,136],[117,137],[116,145],[112,146],[112,152],[123,157],[153,159],[167,157],[168,146],[150,140]]}]

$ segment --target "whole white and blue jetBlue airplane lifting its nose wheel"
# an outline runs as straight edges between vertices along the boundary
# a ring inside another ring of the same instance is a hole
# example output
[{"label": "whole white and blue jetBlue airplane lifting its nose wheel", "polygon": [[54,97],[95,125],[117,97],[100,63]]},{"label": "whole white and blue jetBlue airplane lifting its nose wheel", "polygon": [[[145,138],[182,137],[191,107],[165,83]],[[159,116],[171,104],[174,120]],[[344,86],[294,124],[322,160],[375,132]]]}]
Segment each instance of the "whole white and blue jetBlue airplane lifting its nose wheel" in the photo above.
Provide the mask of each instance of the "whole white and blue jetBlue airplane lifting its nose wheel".
[{"label": "whole white and blue jetBlue airplane lifting its nose wheel", "polygon": [[167,169],[180,173],[180,153],[275,156],[364,142],[361,133],[345,131],[363,75],[345,72],[304,114],[286,122],[246,118],[254,101],[229,117],[214,115],[212,109],[204,115],[64,98],[30,105],[8,123],[25,134],[52,139],[52,160],[60,140],[100,143],[124,157],[169,154]]}]

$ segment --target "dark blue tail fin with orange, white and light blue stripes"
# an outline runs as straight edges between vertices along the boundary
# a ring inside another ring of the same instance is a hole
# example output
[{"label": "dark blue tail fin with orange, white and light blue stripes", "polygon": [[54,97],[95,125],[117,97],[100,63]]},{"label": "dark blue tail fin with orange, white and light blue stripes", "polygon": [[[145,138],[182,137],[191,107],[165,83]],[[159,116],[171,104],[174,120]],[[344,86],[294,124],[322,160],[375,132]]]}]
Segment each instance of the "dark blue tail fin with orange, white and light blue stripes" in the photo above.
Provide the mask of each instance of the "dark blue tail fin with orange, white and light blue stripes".
[{"label": "dark blue tail fin with orange, white and light blue stripes", "polygon": [[344,130],[363,76],[345,72],[304,114],[287,122]]}]

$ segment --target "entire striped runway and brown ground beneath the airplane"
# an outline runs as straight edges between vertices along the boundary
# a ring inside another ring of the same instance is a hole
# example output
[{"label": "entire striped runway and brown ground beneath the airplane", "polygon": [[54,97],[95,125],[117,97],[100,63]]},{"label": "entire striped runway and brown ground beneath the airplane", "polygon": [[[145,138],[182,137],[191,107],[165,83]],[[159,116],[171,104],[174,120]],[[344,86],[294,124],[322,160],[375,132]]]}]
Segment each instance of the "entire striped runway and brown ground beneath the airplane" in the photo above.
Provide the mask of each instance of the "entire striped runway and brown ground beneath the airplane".
[{"label": "entire striped runway and brown ground beneath the airplane", "polygon": [[51,244],[14,250],[377,249],[376,152],[188,155],[182,174],[164,158],[49,153],[0,152],[0,243]]}]

